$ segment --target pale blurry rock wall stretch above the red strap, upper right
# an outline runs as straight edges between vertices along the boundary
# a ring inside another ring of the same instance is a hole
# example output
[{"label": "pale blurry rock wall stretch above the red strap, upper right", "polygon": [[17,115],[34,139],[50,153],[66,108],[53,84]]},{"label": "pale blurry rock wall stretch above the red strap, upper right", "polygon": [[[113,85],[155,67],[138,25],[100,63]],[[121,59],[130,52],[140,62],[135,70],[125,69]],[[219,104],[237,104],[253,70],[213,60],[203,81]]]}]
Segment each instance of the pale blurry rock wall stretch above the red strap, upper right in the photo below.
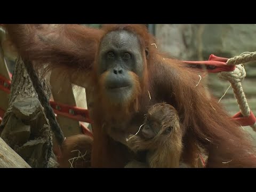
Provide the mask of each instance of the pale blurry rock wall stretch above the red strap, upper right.
[{"label": "pale blurry rock wall stretch above the red strap, upper right", "polygon": [[210,54],[229,58],[256,50],[256,24],[156,24],[155,28],[161,49],[183,59],[207,59]]}]

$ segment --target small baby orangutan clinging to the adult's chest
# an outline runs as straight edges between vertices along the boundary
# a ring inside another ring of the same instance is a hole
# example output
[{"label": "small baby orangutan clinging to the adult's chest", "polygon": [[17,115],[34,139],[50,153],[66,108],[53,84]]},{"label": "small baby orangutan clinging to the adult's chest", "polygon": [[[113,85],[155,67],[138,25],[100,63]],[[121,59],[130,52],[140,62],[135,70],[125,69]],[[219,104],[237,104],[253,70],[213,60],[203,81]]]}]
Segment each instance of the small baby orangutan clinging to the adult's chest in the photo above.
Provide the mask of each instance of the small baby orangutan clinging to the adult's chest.
[{"label": "small baby orangutan clinging to the adult's chest", "polygon": [[[157,103],[148,110],[138,134],[127,139],[127,146],[134,152],[146,150],[150,168],[183,167],[180,160],[184,133],[177,110],[166,103]],[[139,166],[131,164],[125,167]]]}]

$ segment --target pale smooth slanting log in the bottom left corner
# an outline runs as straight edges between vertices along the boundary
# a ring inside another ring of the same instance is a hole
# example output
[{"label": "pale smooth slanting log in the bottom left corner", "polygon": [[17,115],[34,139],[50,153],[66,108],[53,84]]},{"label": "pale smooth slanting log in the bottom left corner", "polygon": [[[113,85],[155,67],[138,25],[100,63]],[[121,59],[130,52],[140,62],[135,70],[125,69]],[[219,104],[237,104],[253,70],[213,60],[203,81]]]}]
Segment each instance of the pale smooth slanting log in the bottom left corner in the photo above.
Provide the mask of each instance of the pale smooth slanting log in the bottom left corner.
[{"label": "pale smooth slanting log in the bottom left corner", "polygon": [[0,138],[0,168],[31,168],[2,138]]}]

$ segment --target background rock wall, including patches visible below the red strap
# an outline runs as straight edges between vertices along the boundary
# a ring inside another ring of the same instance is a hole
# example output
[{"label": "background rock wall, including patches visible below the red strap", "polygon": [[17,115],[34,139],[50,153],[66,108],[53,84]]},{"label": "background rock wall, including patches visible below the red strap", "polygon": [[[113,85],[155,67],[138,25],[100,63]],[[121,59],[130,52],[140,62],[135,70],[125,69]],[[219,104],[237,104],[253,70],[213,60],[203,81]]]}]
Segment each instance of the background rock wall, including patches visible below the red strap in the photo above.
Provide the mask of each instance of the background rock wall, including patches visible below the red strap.
[{"label": "background rock wall, including patches visible below the red strap", "polygon": [[[230,58],[256,51],[255,24],[157,24],[155,28],[158,49],[182,60],[208,60],[210,54]],[[246,96],[255,98],[256,62],[246,63],[245,70]],[[227,85],[216,74],[210,74],[209,86],[217,97],[226,91]],[[231,96],[232,90],[226,94],[227,98]]]}]

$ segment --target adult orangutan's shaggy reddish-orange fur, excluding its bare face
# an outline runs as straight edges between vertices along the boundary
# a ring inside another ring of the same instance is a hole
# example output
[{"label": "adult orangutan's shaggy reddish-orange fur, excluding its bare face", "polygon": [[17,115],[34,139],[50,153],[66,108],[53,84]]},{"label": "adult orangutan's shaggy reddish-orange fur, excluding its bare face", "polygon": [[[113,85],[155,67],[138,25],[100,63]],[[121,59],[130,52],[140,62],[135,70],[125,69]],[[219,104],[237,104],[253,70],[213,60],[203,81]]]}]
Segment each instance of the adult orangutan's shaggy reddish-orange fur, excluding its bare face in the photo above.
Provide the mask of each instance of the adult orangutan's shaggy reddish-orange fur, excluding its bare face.
[{"label": "adult orangutan's shaggy reddish-orange fur, excluding its bare face", "polygon": [[[113,30],[131,31],[139,38],[145,58],[144,76],[142,82],[140,81],[142,89],[138,97],[139,112],[143,113],[148,108],[147,91],[153,98],[151,103],[165,101],[178,110],[182,126],[187,129],[183,144],[188,163],[193,164],[195,154],[198,153],[196,147],[189,145],[189,142],[193,142],[209,153],[207,167],[256,167],[253,156],[255,149],[249,135],[239,124],[230,119],[218,100],[208,97],[201,83],[195,86],[200,71],[190,69],[181,61],[168,58],[159,52],[154,45],[156,43],[154,37],[148,33],[145,26],[105,25],[102,29],[79,25],[58,25],[54,28],[38,27],[38,25],[5,25],[5,27],[22,58],[34,60],[35,65],[39,67],[42,63],[50,63],[48,66],[50,69],[58,67],[60,71],[65,71],[69,75],[79,72],[76,76],[82,77],[83,72],[86,71],[91,74],[85,79],[91,80],[89,84],[91,87],[99,85],[99,79],[94,75],[95,70],[92,66],[93,63],[94,66],[97,65],[97,51],[101,38]],[[149,53],[147,59],[146,49]],[[76,83],[82,84],[81,81],[80,79]],[[96,97],[99,94],[99,91],[95,90]],[[101,102],[95,105],[93,114],[96,115],[92,118],[98,123],[93,130],[95,152],[95,155],[92,154],[93,164],[97,167],[122,167],[127,161],[125,154],[128,152],[121,151],[122,147],[109,142],[106,132],[101,131],[104,123],[101,117],[106,114],[114,117],[118,112],[102,110]],[[135,114],[135,111],[132,111],[132,114]],[[143,119],[138,120],[138,124],[142,124],[142,121]],[[127,132],[129,127],[127,121]]]}]

